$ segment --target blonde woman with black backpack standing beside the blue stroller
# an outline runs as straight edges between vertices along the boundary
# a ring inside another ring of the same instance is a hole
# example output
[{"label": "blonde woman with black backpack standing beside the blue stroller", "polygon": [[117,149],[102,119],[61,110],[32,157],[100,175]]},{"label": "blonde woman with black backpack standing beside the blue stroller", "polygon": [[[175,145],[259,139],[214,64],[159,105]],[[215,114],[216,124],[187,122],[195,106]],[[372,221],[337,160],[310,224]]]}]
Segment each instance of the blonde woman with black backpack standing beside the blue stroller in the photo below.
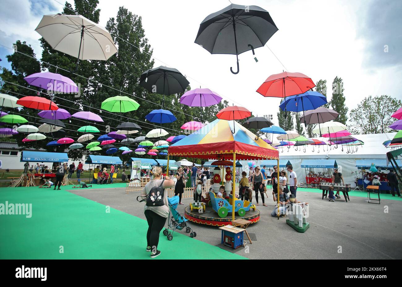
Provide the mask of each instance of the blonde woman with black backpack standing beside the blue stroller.
[{"label": "blonde woman with black backpack standing beside the blue stroller", "polygon": [[[148,222],[146,251],[151,252],[151,258],[155,258],[160,254],[160,251],[157,249],[159,234],[165,226],[166,218],[169,216],[168,193],[164,192],[164,189],[173,187],[174,181],[169,177],[162,176],[162,167],[160,166],[154,166],[152,174],[153,179],[144,186],[141,196],[147,197],[147,203],[144,207],[144,214]],[[151,196],[148,196],[150,193]],[[160,195],[163,197],[163,202],[158,203]]]}]

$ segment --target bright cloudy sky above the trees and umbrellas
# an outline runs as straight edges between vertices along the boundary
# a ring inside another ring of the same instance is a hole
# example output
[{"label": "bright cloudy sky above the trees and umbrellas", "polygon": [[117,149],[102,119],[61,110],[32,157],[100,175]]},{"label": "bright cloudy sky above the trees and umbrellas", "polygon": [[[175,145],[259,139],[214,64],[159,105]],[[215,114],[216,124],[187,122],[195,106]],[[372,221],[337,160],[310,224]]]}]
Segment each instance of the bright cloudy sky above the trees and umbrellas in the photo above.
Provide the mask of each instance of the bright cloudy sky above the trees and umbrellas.
[{"label": "bright cloudy sky above the trees and umbrellas", "polygon": [[[280,100],[264,98],[255,91],[269,75],[284,69],[304,73],[314,82],[326,79],[330,85],[335,76],[341,77],[349,110],[369,95],[388,94],[402,99],[401,1],[244,0],[233,3],[256,5],[269,11],[279,31],[267,45],[280,61],[267,47],[260,47],[255,50],[258,62],[251,51],[241,54],[240,73],[233,75],[230,67],[236,67],[236,55],[211,55],[194,43],[201,21],[228,6],[229,0],[100,0],[98,8],[103,26],[110,17],[116,16],[119,6],[142,16],[156,67],[174,67],[187,76],[192,88],[210,88],[254,115],[276,115]],[[61,10],[62,5],[55,0],[2,0],[0,44],[11,47],[17,39],[25,40],[40,55],[40,35],[34,30],[43,14]],[[9,67],[7,53],[10,50],[0,46],[3,60],[0,65]],[[328,101],[330,91],[328,88]]]}]

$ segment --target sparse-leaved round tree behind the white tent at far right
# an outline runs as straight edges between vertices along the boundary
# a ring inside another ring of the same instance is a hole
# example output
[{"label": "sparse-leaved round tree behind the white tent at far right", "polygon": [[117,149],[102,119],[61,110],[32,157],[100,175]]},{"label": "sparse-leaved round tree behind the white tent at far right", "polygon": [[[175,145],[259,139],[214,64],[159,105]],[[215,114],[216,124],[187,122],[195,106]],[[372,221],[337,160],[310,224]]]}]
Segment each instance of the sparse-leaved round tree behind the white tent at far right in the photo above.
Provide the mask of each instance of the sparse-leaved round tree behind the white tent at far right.
[{"label": "sparse-leaved round tree behind the white tent at far right", "polygon": [[402,101],[388,95],[368,96],[350,114],[350,132],[379,134],[393,131],[388,128],[396,119],[391,115],[402,106]]}]

